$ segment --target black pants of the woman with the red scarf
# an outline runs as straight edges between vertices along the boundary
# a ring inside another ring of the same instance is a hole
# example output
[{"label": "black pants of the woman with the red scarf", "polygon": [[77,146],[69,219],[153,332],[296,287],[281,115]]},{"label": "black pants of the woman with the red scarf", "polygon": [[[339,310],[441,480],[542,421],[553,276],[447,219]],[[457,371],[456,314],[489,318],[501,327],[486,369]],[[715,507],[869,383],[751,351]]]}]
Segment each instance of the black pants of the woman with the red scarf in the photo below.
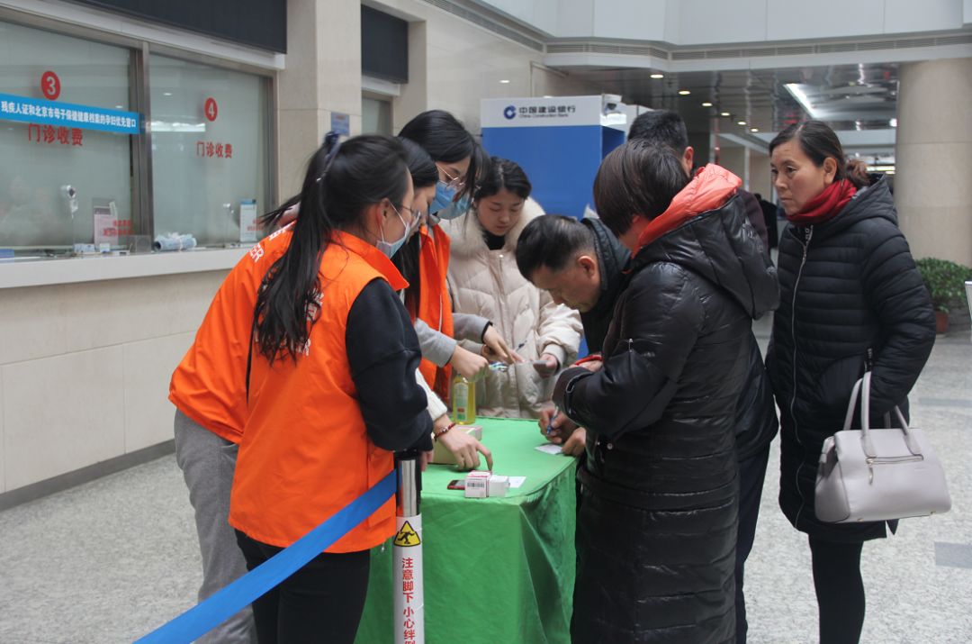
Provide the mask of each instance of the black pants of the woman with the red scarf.
[{"label": "black pants of the woman with the red scarf", "polygon": [[865,608],[864,582],[860,577],[863,545],[810,537],[820,644],[857,644],[860,640]]}]

